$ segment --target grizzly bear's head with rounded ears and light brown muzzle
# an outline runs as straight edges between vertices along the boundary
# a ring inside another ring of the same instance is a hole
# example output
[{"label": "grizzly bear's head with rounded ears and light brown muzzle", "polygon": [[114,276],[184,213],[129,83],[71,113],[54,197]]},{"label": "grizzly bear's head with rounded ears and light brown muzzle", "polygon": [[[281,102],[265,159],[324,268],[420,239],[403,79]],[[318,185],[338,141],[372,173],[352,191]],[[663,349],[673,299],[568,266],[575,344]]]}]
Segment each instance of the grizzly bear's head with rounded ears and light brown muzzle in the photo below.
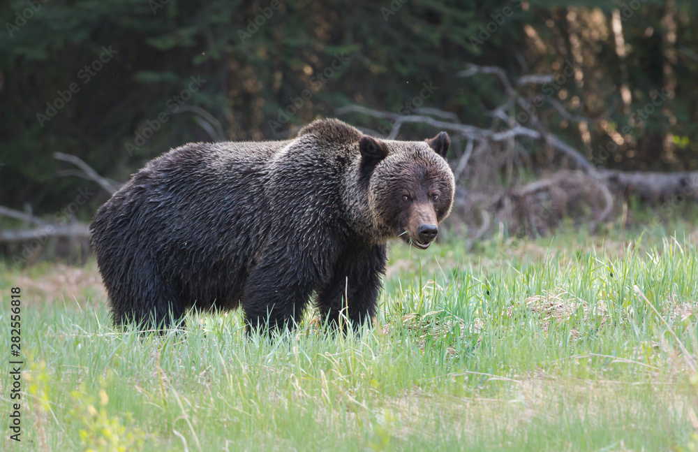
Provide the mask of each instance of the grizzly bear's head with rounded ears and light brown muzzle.
[{"label": "grizzly bear's head with rounded ears and light brown muzzle", "polygon": [[445,132],[424,141],[362,136],[360,177],[383,233],[419,249],[431,245],[453,203],[454,177],[445,160],[450,144]]}]

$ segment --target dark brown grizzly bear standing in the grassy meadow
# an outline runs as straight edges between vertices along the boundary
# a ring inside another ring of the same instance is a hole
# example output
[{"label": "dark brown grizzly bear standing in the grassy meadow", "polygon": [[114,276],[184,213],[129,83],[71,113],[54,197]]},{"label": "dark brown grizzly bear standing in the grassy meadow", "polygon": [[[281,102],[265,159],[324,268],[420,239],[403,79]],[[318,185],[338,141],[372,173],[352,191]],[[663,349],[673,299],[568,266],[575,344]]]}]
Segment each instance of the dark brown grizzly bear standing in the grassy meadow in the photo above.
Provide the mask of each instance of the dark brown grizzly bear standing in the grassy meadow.
[{"label": "dark brown grizzly bear standing in the grassy meadow", "polygon": [[357,328],[376,313],[386,242],[418,249],[451,210],[447,133],[380,140],[337,119],[292,140],[192,143],[150,161],[90,225],[114,322],[165,328],[241,305],[248,330],[309,304]]}]

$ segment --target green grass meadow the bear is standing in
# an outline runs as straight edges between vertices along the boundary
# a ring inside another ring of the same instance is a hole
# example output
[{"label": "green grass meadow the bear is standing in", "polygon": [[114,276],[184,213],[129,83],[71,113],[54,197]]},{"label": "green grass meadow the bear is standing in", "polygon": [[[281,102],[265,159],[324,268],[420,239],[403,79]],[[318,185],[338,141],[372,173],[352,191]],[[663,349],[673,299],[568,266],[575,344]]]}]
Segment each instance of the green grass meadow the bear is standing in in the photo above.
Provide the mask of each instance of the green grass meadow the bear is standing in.
[{"label": "green grass meadow the bear is standing in", "polygon": [[[239,312],[142,337],[94,290],[49,304],[24,284],[21,449],[695,451],[698,249],[677,237],[394,243],[356,337],[309,315],[249,340]],[[15,281],[51,271],[3,268],[1,325]]]}]

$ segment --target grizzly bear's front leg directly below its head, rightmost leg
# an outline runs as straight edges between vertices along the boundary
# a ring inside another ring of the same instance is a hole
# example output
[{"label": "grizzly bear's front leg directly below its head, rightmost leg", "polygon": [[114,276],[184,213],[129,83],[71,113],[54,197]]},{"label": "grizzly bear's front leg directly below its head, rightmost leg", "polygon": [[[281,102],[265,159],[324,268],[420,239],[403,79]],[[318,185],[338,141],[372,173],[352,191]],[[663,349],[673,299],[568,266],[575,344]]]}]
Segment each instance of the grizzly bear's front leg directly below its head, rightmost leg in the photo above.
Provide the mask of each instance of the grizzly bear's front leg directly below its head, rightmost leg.
[{"label": "grizzly bear's front leg directly below its head, rightmost leg", "polygon": [[385,259],[385,245],[346,249],[334,265],[329,284],[318,292],[321,319],[327,319],[333,328],[342,326],[343,330],[346,323],[357,330],[370,322],[378,307]]}]

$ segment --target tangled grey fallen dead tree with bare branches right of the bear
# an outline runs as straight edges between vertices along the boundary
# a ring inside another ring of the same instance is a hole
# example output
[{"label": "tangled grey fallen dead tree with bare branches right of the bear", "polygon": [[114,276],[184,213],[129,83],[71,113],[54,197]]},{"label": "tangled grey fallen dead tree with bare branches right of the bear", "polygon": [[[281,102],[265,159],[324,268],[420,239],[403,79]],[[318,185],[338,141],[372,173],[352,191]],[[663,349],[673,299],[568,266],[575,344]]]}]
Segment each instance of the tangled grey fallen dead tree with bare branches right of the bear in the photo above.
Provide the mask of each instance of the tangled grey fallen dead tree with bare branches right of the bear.
[{"label": "tangled grey fallen dead tree with bare branches right of the bear", "polygon": [[[687,52],[688,54],[688,52]],[[454,165],[454,176],[459,182],[456,190],[454,209],[463,212],[477,210],[482,212],[484,227],[489,226],[488,211],[493,211],[497,224],[506,221],[514,229],[523,228],[533,233],[542,233],[551,225],[560,221],[563,215],[577,215],[578,219],[588,216],[591,207],[591,219],[585,220],[593,228],[599,221],[604,221],[614,210],[614,196],[638,195],[651,202],[692,199],[698,201],[698,172],[695,173],[641,173],[624,172],[596,168],[586,156],[575,147],[565,143],[552,133],[547,124],[541,121],[532,101],[526,99],[519,89],[526,85],[544,85],[554,80],[552,75],[533,74],[511,78],[503,68],[497,66],[468,65],[459,72],[460,77],[475,74],[493,75],[503,85],[505,100],[488,114],[492,117],[490,129],[482,129],[469,124],[461,124],[459,118],[442,110],[420,108],[415,115],[400,115],[393,112],[373,110],[360,105],[348,105],[336,111],[338,115],[357,112],[378,119],[389,119],[392,130],[388,138],[396,138],[401,126],[408,123],[425,124],[435,129],[450,131],[467,140],[466,150]],[[540,99],[535,99],[536,105]],[[588,122],[593,124],[607,119],[617,107],[618,100],[597,117],[583,117],[567,111],[556,99],[543,99],[552,106],[565,120],[570,122]],[[517,121],[517,108],[528,113],[526,126]],[[492,187],[496,175],[511,171],[513,165],[528,164],[525,155],[521,155],[521,138],[537,140],[567,158],[577,171],[560,170],[555,175],[513,188]],[[485,151],[485,152],[483,152]],[[523,161],[521,160],[523,157]],[[471,165],[475,169],[466,171]],[[467,181],[462,181],[463,175]],[[480,187],[478,184],[482,184]],[[470,189],[464,189],[470,186]],[[486,187],[487,186],[487,187]],[[582,205],[588,207],[581,208]],[[487,218],[488,221],[484,221]],[[482,228],[478,234],[482,234]]]}]

